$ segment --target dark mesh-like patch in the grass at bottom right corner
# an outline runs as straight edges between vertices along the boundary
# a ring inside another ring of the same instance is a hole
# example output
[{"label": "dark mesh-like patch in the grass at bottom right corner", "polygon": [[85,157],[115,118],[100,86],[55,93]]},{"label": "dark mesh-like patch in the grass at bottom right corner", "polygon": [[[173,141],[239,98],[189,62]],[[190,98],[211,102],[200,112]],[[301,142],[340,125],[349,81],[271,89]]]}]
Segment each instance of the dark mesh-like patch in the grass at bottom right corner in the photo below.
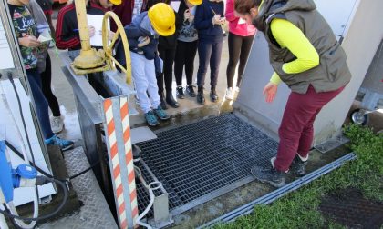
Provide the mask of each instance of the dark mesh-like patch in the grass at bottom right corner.
[{"label": "dark mesh-like patch in the grass at bottom right corner", "polygon": [[367,200],[355,188],[326,195],[319,205],[322,214],[350,228],[381,228],[383,203]]}]

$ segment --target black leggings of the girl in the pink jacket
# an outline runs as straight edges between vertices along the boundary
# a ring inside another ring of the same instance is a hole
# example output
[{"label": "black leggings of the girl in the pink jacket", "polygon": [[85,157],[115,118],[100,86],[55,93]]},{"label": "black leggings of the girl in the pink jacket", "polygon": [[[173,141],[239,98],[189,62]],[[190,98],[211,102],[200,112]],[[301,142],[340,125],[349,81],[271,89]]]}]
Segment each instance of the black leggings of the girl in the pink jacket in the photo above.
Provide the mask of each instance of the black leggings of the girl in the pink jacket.
[{"label": "black leggings of the girl in the pink jacket", "polygon": [[229,64],[226,69],[227,87],[233,87],[233,78],[238,60],[240,61],[240,64],[238,66],[237,86],[241,85],[244,66],[246,65],[253,39],[254,35],[241,36],[229,33]]}]

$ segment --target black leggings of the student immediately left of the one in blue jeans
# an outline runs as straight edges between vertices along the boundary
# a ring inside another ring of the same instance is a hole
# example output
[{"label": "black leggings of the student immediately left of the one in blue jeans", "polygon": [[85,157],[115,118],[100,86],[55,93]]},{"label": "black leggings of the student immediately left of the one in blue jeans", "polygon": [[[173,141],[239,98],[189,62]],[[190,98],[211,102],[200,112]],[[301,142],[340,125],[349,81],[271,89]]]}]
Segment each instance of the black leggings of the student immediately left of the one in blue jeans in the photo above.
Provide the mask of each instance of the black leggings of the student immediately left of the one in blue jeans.
[{"label": "black leggings of the student immediately left of the one in blue jeans", "polygon": [[182,85],[183,65],[185,65],[186,84],[192,84],[192,74],[194,72],[194,58],[197,54],[198,41],[181,42],[178,41],[176,57],[174,60],[174,75],[177,85]]}]

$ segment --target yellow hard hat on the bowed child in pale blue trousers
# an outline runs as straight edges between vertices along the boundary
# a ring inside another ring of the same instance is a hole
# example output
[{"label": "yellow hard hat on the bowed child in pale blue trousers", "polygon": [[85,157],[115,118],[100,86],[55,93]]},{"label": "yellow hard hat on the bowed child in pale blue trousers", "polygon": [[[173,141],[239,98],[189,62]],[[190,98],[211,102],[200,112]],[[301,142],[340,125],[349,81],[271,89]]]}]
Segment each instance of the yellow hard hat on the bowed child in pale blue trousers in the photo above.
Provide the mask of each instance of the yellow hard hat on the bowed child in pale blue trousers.
[{"label": "yellow hard hat on the bowed child in pale blue trousers", "polygon": [[148,16],[154,30],[162,36],[173,35],[175,32],[175,14],[171,5],[158,3],[150,7]]}]

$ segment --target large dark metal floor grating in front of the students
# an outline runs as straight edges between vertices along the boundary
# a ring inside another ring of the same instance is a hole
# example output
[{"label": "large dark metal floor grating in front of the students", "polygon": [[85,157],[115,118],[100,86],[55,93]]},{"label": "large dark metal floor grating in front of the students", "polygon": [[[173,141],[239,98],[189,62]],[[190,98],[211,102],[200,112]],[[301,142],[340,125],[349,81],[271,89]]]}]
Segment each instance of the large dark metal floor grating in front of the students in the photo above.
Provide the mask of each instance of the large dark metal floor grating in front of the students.
[{"label": "large dark metal floor grating in front of the students", "polygon": [[196,205],[198,199],[223,188],[229,190],[228,186],[245,178],[251,181],[251,167],[269,164],[277,149],[273,139],[233,114],[157,136],[139,146],[142,159],[169,193],[171,210],[192,201]]}]

